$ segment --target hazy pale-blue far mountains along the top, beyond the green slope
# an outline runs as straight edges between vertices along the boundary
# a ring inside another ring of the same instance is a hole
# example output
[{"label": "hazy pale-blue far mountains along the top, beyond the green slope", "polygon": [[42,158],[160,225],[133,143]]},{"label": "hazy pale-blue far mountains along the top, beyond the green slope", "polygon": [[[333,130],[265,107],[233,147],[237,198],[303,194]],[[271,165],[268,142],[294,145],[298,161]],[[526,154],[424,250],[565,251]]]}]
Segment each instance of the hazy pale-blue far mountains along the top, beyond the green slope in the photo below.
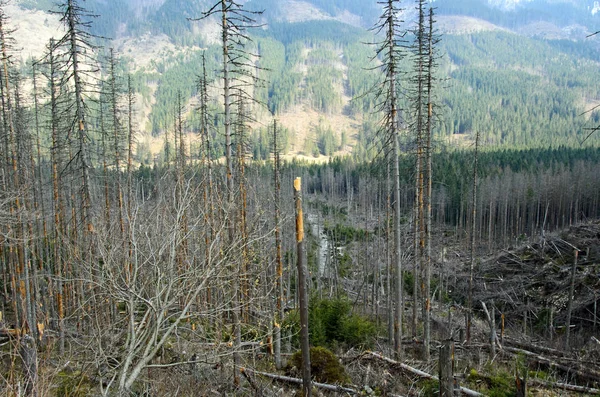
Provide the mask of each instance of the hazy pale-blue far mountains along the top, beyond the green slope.
[{"label": "hazy pale-blue far mountains along the top, beyond the green slope", "polygon": [[[246,8],[264,10],[262,21],[297,23],[309,20],[336,20],[353,26],[369,28],[379,16],[376,0],[242,0]],[[598,0],[430,0],[441,15],[475,17],[494,25],[519,31],[535,24],[541,36],[549,23],[558,28],[581,26],[582,34],[600,29]],[[47,11],[54,8],[52,0],[18,0],[26,8]],[[103,36],[121,37],[152,31],[181,35],[194,27],[186,18],[199,17],[212,0],[87,0],[85,6],[102,17],[95,21]],[[414,1],[401,1],[406,20],[414,17]],[[535,28],[534,28],[535,29]],[[573,29],[571,29],[573,30]],[[533,34],[532,29],[525,29]],[[552,33],[553,35],[556,32]],[[563,38],[573,38],[566,37]]]}]

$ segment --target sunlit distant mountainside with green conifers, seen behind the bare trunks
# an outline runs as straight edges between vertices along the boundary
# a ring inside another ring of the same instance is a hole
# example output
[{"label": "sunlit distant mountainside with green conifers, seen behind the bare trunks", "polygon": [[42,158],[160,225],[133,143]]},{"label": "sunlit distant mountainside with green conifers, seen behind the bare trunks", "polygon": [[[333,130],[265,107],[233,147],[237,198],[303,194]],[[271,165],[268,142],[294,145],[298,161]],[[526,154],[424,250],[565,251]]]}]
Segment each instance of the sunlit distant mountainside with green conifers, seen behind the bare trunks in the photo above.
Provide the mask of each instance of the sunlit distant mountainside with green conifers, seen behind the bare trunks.
[{"label": "sunlit distant mountainside with green conifers, seen behind the bare trunks", "polygon": [[[52,7],[49,3],[22,0],[28,10],[10,8],[19,21],[19,44],[34,56],[58,32],[57,17],[39,11]],[[214,74],[220,62],[215,47],[219,26],[217,21],[189,20],[201,16],[209,4],[212,0],[85,2],[99,15],[93,21],[95,32],[114,38],[103,44],[115,47],[135,73],[140,89],[137,124],[153,154],[161,150],[161,136],[172,126],[179,91],[190,98],[189,128],[196,128],[191,110],[205,50],[214,81],[212,109],[219,112],[219,79]],[[402,4],[410,28],[414,3]],[[600,29],[600,14],[592,15],[590,8],[593,1],[436,0],[435,5],[443,34],[439,141],[469,144],[479,131],[489,146],[576,146],[587,127],[600,123],[598,114],[582,116],[600,103],[600,45],[598,39],[585,37],[595,31],[595,24]],[[365,27],[378,15],[376,2],[248,0],[245,6],[265,10],[260,16],[265,26],[252,33],[251,47],[262,57],[257,65],[269,72],[261,74],[265,85],[254,90],[288,130],[287,150],[329,155],[331,149],[320,150],[318,144],[331,133],[334,152],[352,151],[363,159],[372,155],[377,117],[371,115],[372,95],[364,94],[376,84],[378,73],[370,70],[373,47],[364,43],[373,41]],[[36,29],[42,25],[44,29]],[[410,70],[410,61],[402,67]],[[266,108],[254,112],[258,122],[253,139],[264,155],[270,116]],[[219,134],[215,139],[218,152]]]}]

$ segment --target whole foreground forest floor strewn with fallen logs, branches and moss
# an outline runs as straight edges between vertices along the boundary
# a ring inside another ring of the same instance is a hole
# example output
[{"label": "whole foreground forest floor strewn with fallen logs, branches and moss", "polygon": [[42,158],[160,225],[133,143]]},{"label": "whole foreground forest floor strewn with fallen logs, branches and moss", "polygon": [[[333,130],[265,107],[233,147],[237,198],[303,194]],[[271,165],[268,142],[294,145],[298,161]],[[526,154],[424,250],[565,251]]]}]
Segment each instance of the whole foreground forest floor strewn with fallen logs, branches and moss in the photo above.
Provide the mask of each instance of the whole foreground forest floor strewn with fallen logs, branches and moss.
[{"label": "whole foreground forest floor strewn with fallen logs, branches and moss", "polygon": [[[575,258],[572,332],[567,348],[566,308]],[[347,391],[319,389],[313,395],[434,396],[439,387],[435,378],[439,351],[449,338],[455,349],[453,372],[465,389],[463,394],[517,396],[519,379],[528,384],[529,396],[600,395],[600,324],[596,316],[600,295],[600,222],[575,225],[481,260],[476,272],[475,318],[469,342],[464,334],[466,308],[455,303],[464,299],[461,294],[466,291],[461,281],[465,279],[464,259],[464,255],[462,259],[456,256],[446,263],[453,268],[457,282],[447,278],[442,284],[449,290],[446,296],[433,301],[430,361],[422,358],[419,336],[404,339],[401,362],[393,360],[385,337],[378,338],[372,346],[371,351],[377,353],[339,346],[336,353],[348,375],[344,383]],[[486,320],[482,303],[492,312],[492,321]],[[406,309],[409,320],[410,307]],[[490,344],[492,328],[496,332],[494,351]],[[151,395],[297,395],[299,386],[290,383],[289,378],[297,379],[298,370],[288,366],[285,371],[276,371],[262,344],[243,353],[247,372],[237,389],[231,386],[231,362],[226,358],[229,347],[210,346],[205,352],[196,351],[194,356],[185,355],[183,350],[190,351],[187,348],[166,349],[161,360],[187,360],[189,364],[149,369],[144,382]],[[215,360],[218,356],[222,358]],[[95,385],[102,382],[101,376],[89,368],[89,360],[79,362],[73,356],[59,366],[60,360],[49,351],[40,352],[39,357],[40,379],[52,382],[46,385],[47,390],[52,390],[48,395],[95,395]]]}]

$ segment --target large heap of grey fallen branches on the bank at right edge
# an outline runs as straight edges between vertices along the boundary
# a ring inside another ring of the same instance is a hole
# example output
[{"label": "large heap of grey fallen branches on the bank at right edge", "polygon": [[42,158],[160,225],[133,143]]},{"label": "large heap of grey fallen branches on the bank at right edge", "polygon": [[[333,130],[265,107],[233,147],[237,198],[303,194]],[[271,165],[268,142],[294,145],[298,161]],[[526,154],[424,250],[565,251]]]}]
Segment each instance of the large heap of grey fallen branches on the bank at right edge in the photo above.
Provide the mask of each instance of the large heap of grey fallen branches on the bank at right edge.
[{"label": "large heap of grey fallen branches on the bank at right edge", "polygon": [[[570,274],[574,276],[574,322],[600,329],[600,222],[573,226],[560,235],[504,251],[479,268],[474,299],[493,302],[517,319],[563,323],[569,300]],[[540,320],[547,319],[547,320]],[[573,323],[572,323],[573,324]],[[545,325],[545,324],[543,324]]]}]

